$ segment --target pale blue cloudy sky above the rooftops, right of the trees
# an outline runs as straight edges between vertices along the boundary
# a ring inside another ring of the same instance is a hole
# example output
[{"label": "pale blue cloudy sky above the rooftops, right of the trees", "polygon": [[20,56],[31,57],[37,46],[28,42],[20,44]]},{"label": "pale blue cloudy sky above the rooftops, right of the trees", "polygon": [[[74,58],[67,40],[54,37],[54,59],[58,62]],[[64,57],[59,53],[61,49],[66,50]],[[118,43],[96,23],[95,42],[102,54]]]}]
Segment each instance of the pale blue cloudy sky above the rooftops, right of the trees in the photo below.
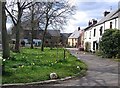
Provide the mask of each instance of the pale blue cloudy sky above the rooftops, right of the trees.
[{"label": "pale blue cloudy sky above the rooftops, right of the trees", "polygon": [[88,26],[89,20],[99,21],[104,17],[104,11],[118,9],[120,0],[70,0],[71,5],[76,6],[76,13],[69,20],[68,25],[61,32],[72,33],[78,27],[84,29]]}]

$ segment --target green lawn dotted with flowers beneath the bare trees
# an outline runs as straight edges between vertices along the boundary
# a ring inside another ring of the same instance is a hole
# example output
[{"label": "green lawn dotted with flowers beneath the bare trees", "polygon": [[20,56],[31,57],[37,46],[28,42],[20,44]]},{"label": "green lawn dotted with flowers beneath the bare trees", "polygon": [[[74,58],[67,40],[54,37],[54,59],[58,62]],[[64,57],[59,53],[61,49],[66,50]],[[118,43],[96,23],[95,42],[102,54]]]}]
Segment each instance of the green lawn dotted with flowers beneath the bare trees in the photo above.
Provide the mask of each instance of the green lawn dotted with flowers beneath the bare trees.
[{"label": "green lawn dotted with flowers beneath the bare trees", "polygon": [[[5,74],[2,77],[3,84],[27,83],[50,80],[49,74],[55,72],[59,78],[85,74],[87,66],[84,62],[66,51],[66,59],[63,59],[63,49],[50,50],[22,48],[21,53],[11,52],[11,58],[5,61]],[[56,61],[57,60],[57,61]]]}]

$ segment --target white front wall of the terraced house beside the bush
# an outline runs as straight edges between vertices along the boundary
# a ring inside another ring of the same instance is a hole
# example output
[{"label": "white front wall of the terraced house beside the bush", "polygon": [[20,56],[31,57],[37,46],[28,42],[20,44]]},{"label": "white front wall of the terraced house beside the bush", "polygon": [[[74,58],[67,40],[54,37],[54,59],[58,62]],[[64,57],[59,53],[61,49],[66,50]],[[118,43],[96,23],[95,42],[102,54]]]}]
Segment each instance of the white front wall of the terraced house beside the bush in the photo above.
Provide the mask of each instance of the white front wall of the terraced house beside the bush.
[{"label": "white front wall of the terraced house beside the bush", "polygon": [[[84,33],[84,46],[85,46],[85,42],[90,42],[91,43],[91,51],[93,51],[93,41],[97,41],[97,43],[99,43],[99,41],[102,37],[100,35],[100,27],[103,26],[103,28],[102,28],[102,34],[103,34],[106,29],[110,28],[110,22],[112,22],[112,29],[114,29],[114,28],[118,29],[119,28],[118,18],[115,18],[113,20],[110,20],[110,21],[107,21],[105,23],[94,26],[90,30],[86,30],[85,33]],[[95,36],[94,36],[94,29],[96,29],[96,35]],[[89,39],[90,31],[91,31],[91,39]],[[96,48],[96,46],[95,46],[95,48]]]}]

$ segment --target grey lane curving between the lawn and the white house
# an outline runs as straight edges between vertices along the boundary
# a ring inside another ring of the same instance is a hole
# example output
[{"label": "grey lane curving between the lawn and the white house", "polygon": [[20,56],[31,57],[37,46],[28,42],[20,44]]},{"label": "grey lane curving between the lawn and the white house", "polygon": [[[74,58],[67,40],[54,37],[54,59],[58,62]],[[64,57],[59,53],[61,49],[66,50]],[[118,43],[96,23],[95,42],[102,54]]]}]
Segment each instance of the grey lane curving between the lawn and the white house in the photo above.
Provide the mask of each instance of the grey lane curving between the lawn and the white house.
[{"label": "grey lane curving between the lawn and the white house", "polygon": [[53,86],[118,86],[118,62],[68,49],[88,65],[87,75],[53,84]]}]

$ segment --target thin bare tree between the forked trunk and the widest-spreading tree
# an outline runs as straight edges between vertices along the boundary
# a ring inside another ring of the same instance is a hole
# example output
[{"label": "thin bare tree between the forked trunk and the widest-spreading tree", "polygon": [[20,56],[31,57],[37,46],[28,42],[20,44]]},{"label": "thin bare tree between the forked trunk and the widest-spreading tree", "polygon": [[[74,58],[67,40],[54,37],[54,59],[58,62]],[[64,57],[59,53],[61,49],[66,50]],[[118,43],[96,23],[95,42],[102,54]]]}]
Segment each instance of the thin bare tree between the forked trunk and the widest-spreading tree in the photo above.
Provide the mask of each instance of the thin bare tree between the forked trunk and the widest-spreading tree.
[{"label": "thin bare tree between the forked trunk and the widest-spreading tree", "polygon": [[[39,29],[39,24],[38,24],[38,6],[36,6],[36,3],[39,2],[34,2],[34,4],[31,5],[29,10],[24,14],[23,16],[23,22],[22,24],[24,25],[23,27],[29,29],[30,32],[30,42],[31,42],[31,48],[33,49],[33,39],[34,39],[34,31]],[[26,27],[27,26],[27,27]]]}]

